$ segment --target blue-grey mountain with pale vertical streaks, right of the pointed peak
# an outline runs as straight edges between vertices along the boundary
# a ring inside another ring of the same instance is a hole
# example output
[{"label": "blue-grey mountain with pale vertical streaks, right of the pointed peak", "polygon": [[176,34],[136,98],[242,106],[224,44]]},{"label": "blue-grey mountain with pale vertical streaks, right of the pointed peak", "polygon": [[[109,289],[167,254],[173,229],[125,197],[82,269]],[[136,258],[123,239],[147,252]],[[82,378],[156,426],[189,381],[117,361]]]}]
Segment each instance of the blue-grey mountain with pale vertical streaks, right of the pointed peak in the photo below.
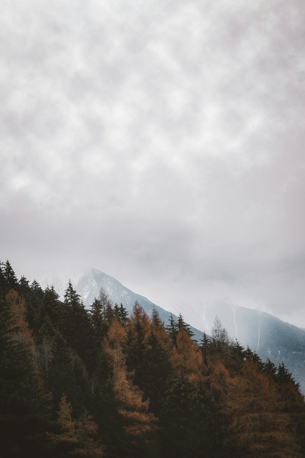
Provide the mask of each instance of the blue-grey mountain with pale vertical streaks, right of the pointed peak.
[{"label": "blue-grey mountain with pale vertical streaks, right of the pointed peak", "polygon": [[205,324],[213,325],[215,315],[219,316],[230,336],[238,338],[243,346],[249,345],[263,361],[270,358],[276,365],[284,361],[289,372],[305,393],[305,330],[284,322],[276,316],[255,309],[234,305],[223,300],[197,310]]}]

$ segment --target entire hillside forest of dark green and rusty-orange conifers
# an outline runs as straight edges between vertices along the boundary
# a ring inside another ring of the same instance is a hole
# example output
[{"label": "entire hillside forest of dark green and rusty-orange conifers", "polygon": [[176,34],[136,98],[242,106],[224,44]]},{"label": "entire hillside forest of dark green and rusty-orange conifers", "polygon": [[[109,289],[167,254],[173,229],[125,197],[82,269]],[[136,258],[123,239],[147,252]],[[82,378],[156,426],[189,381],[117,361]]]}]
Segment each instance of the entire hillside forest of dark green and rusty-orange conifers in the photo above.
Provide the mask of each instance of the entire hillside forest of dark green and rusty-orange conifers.
[{"label": "entire hillside forest of dark green and rusty-orange conifers", "polygon": [[101,289],[0,264],[0,456],[301,457],[305,403],[285,368],[231,341],[215,317],[199,342],[180,315],[128,315]]}]

